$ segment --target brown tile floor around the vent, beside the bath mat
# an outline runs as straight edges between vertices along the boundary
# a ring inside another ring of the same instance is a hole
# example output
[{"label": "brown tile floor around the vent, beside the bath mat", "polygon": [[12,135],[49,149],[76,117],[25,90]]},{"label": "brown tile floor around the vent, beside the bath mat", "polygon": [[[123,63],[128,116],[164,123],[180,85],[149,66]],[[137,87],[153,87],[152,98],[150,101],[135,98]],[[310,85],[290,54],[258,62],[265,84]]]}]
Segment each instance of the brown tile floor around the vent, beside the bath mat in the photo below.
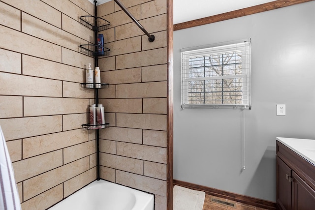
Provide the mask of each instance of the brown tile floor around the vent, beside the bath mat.
[{"label": "brown tile floor around the vent, beside the bath mat", "polygon": [[204,205],[203,205],[203,210],[265,210],[265,209],[262,209],[262,208],[259,208],[259,207],[254,207],[254,206],[251,206],[251,205],[248,205],[248,204],[242,204],[242,203],[239,203],[239,202],[235,202],[235,201],[230,201],[230,200],[219,198],[219,199],[221,199],[223,201],[228,201],[228,202],[236,204],[236,208],[228,207],[228,206],[225,206],[225,205],[222,205],[222,204],[217,204],[215,202],[212,202],[211,201],[212,197],[218,198],[218,197],[206,194],[205,202],[204,202]]}]

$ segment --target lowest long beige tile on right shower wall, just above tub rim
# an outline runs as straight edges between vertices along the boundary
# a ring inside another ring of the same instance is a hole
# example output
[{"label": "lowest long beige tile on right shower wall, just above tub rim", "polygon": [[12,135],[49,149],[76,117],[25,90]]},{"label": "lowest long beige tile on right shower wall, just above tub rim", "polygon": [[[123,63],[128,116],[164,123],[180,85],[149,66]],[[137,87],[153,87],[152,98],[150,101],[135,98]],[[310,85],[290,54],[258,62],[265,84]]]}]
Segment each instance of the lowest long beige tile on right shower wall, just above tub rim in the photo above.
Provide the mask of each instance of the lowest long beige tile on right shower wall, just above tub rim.
[{"label": "lowest long beige tile on right shower wall, just above tub rim", "polygon": [[166,197],[166,181],[116,170],[116,183]]}]

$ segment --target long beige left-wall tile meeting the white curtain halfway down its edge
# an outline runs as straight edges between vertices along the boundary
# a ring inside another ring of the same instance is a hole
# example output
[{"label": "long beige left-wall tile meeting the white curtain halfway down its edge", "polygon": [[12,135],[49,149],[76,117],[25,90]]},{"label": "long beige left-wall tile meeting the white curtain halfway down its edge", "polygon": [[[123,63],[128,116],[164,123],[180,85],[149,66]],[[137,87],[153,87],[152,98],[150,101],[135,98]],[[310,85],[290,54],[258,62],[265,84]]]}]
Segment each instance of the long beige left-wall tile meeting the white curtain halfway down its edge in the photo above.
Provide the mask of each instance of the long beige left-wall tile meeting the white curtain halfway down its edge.
[{"label": "long beige left-wall tile meeting the white curtain halfway down its edge", "polygon": [[62,166],[63,151],[52,151],[46,154],[14,162],[12,165],[14,168],[15,181],[20,182]]}]

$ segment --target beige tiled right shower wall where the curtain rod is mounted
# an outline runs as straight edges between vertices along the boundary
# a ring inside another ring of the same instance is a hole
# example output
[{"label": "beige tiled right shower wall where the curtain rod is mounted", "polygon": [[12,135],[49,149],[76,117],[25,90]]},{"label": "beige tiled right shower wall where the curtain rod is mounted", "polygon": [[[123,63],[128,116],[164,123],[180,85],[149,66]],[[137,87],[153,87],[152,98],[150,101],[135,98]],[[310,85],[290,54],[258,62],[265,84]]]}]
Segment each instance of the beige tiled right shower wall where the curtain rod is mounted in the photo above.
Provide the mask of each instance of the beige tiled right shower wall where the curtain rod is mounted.
[{"label": "beige tiled right shower wall where the curtain rod is mounted", "polygon": [[100,90],[110,127],[100,131],[100,177],[155,194],[166,209],[167,0],[121,0],[154,42],[114,2],[98,6],[111,23],[104,34],[111,55],[99,59]]}]

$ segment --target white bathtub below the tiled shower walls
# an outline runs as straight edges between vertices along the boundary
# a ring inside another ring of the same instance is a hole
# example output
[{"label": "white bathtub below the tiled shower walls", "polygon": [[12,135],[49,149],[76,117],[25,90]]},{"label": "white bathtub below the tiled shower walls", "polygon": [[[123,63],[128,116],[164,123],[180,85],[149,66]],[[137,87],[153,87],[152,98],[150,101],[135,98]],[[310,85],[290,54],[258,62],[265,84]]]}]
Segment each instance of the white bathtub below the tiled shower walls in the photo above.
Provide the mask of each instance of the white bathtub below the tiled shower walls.
[{"label": "white bathtub below the tiled shower walls", "polygon": [[49,210],[154,210],[154,195],[95,180]]}]

